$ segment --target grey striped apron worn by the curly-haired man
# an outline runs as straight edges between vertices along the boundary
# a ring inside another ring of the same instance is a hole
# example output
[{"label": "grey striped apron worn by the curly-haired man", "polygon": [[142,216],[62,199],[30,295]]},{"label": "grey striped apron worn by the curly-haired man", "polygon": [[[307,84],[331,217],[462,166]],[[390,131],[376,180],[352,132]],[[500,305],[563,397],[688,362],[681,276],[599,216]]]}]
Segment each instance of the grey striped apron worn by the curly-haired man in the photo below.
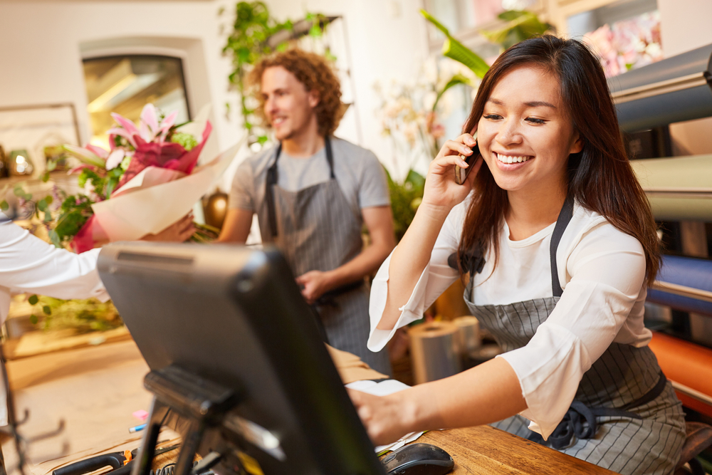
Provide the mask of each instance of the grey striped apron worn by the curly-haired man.
[{"label": "grey striped apron worn by the curly-haired man", "polygon": [[[276,244],[295,276],[308,271],[331,271],[354,259],[363,246],[360,216],[355,215],[334,176],[329,137],[324,142],[329,181],[297,192],[277,185],[282,146],[278,147],[267,172],[266,206],[258,213],[263,242]],[[366,348],[369,293],[365,281],[360,280],[325,293],[313,308],[330,345],[353,353],[374,370],[390,375],[387,351],[373,353]]]}]

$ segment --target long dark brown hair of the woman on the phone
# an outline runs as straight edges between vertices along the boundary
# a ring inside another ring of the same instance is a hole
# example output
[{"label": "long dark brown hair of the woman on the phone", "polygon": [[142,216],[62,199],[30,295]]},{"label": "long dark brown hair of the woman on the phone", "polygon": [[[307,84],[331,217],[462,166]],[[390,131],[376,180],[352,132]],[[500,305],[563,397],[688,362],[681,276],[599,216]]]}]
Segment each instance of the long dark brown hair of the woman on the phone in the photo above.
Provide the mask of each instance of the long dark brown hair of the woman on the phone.
[{"label": "long dark brown hair of the woman on the phone", "polygon": [[[582,138],[582,151],[569,156],[569,195],[642,244],[646,282],[651,284],[660,266],[655,221],[628,161],[603,68],[583,43],[545,35],[522,41],[502,53],[483,78],[463,130],[476,130],[498,80],[522,65],[545,68],[558,78],[562,100],[574,130]],[[467,210],[459,261],[476,249],[486,255],[492,246],[496,263],[498,236],[507,207],[507,192],[498,187],[484,165],[476,177]],[[462,263],[461,271],[467,271]]]}]

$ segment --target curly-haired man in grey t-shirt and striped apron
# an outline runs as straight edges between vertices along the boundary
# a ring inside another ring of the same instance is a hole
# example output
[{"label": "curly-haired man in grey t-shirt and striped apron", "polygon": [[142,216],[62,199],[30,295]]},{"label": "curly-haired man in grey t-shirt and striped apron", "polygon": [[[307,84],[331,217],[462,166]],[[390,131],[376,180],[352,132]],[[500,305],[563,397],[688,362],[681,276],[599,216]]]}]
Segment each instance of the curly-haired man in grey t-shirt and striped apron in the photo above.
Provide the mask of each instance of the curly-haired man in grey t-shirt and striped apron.
[{"label": "curly-haired man in grey t-shirt and striped apron", "polygon": [[[219,241],[244,243],[256,213],[262,241],[285,254],[325,340],[390,374],[387,353],[366,348],[364,281],[395,245],[384,170],[372,152],[333,136],[341,89],[323,57],[276,53],[258,63],[248,82],[258,88],[278,145],[240,165]],[[371,241],[365,248],[364,224]]]}]

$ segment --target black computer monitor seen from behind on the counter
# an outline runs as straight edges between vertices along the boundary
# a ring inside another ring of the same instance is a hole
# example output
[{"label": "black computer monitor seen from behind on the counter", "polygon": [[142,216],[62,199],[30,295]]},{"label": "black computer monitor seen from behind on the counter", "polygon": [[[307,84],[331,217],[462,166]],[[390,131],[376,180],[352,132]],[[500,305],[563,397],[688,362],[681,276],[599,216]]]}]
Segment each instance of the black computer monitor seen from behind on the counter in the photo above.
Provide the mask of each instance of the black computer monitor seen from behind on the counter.
[{"label": "black computer monitor seen from behind on the counter", "polygon": [[231,393],[199,446],[223,454],[215,471],[384,473],[278,251],[117,243],[98,268],[150,375],[177,368]]}]

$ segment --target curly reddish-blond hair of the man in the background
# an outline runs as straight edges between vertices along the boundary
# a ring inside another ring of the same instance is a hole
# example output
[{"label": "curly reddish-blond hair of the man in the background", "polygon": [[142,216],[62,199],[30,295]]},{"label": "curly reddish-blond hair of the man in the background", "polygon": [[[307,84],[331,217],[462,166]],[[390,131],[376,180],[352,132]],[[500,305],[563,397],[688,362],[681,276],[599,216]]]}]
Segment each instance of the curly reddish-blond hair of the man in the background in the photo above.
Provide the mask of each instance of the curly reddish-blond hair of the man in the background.
[{"label": "curly reddish-blond hair of the man in the background", "polygon": [[344,114],[339,79],[323,56],[296,48],[267,56],[250,71],[247,83],[260,102],[260,107],[255,111],[258,117],[265,124],[268,123],[264,115],[265,101],[259,90],[264,71],[274,66],[285,68],[304,85],[307,91],[315,91],[318,94],[319,103],[314,108],[314,112],[319,134],[323,137],[332,135]]}]

